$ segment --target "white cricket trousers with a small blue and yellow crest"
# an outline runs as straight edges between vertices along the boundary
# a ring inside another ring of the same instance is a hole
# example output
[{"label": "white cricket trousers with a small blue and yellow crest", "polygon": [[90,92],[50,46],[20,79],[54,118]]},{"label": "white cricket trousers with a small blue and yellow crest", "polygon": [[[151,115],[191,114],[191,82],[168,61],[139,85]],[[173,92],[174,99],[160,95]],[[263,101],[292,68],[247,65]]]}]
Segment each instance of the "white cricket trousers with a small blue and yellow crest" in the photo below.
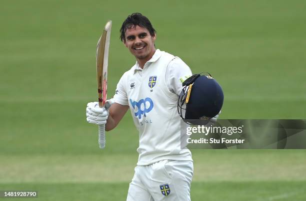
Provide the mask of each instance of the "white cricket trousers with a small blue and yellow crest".
[{"label": "white cricket trousers with a small blue and yellow crest", "polygon": [[136,166],[126,201],[190,201],[192,161],[164,160]]}]

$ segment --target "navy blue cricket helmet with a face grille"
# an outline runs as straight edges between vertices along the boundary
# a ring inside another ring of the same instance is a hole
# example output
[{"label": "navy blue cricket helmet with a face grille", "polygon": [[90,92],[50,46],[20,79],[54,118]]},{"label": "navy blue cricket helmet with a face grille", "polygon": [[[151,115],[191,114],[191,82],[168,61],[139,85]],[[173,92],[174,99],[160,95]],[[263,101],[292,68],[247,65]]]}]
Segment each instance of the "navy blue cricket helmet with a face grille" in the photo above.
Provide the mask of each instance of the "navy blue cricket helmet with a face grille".
[{"label": "navy blue cricket helmet with a face grille", "polygon": [[194,74],[182,83],[177,110],[187,124],[205,125],[217,115],[223,105],[223,91],[215,79],[208,75]]}]

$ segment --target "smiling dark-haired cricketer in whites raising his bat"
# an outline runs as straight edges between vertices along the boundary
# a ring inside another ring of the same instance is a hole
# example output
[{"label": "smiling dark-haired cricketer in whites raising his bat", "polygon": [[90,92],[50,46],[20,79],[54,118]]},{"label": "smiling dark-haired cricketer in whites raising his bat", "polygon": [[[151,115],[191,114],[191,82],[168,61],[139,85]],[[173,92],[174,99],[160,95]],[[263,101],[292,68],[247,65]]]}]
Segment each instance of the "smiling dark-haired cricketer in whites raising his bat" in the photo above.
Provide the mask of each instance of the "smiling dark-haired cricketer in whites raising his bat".
[{"label": "smiling dark-haired cricketer in whites raising his bat", "polygon": [[87,104],[87,121],[106,123],[109,131],[130,109],[139,131],[139,157],[127,201],[190,201],[193,162],[180,143],[176,106],[181,80],[191,70],[180,58],[155,49],[156,31],[140,13],[127,16],[120,39],[136,63],[122,75],[106,108]]}]

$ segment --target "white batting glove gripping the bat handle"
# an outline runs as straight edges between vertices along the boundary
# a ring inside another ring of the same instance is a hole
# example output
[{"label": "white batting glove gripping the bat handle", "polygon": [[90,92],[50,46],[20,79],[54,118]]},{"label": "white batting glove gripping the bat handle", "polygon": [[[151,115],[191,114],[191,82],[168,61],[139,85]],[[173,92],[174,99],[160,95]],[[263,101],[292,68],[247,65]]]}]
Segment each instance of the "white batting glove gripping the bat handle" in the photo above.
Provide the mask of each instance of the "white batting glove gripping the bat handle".
[{"label": "white batting glove gripping the bat handle", "polygon": [[104,107],[99,108],[98,102],[90,102],[86,107],[86,120],[91,124],[106,124],[108,118],[108,109],[113,103],[113,99],[106,100]]}]

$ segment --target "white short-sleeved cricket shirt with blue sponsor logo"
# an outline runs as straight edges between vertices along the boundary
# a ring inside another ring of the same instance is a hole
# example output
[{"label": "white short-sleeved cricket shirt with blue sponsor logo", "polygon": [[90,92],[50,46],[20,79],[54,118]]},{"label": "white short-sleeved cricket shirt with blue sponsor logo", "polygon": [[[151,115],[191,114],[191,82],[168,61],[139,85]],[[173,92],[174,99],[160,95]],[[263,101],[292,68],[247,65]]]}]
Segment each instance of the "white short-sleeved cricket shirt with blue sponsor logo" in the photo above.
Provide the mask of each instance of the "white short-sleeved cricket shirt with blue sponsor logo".
[{"label": "white short-sleeved cricket shirt with blue sponsor logo", "polygon": [[114,101],[128,105],[139,131],[139,166],[161,160],[192,161],[180,145],[180,116],[177,100],[181,77],[192,75],[178,57],[156,49],[141,69],[136,62],[120,78]]}]

